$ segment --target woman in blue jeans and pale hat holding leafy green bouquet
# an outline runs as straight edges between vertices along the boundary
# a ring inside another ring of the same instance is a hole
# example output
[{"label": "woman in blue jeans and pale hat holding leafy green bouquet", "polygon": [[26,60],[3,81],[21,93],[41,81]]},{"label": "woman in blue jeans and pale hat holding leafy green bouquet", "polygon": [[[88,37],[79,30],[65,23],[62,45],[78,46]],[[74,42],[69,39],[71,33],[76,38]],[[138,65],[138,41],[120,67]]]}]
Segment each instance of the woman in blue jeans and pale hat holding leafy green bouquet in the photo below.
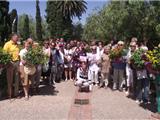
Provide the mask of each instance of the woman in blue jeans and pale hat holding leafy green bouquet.
[{"label": "woman in blue jeans and pale hat holding leafy green bouquet", "polygon": [[140,46],[131,57],[132,64],[136,70],[136,103],[149,102],[149,79],[145,68],[146,46]]}]

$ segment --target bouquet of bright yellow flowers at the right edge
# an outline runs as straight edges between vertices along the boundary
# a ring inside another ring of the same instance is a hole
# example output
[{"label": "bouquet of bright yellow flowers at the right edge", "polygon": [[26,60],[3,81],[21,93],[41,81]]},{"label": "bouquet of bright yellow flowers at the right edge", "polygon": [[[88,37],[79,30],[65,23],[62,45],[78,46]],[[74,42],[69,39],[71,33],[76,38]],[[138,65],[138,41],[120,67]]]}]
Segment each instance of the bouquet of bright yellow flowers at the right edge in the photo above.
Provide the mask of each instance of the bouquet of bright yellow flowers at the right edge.
[{"label": "bouquet of bright yellow flowers at the right edge", "polygon": [[160,71],[160,46],[147,52],[147,58],[154,70]]}]

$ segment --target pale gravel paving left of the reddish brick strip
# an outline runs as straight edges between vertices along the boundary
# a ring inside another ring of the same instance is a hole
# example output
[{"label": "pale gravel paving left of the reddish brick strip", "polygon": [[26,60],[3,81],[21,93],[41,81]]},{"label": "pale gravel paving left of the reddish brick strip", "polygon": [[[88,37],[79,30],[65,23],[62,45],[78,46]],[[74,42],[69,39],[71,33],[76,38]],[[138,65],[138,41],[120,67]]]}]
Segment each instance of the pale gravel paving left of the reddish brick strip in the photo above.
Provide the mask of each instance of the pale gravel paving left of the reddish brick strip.
[{"label": "pale gravel paving left of the reddish brick strip", "polygon": [[0,120],[62,120],[67,119],[71,101],[75,93],[72,82],[56,84],[53,87],[41,86],[40,94],[29,101],[24,98],[0,101]]}]

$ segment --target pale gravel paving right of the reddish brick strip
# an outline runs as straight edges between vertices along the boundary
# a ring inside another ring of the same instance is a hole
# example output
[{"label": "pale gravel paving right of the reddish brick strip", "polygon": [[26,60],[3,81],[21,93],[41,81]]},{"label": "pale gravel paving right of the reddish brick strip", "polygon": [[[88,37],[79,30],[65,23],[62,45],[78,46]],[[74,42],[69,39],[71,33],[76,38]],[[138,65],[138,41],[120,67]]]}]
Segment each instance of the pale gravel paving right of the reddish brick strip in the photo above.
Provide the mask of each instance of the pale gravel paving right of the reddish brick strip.
[{"label": "pale gravel paving right of the reddish brick strip", "polygon": [[92,93],[92,119],[146,120],[151,112],[140,107],[123,92],[94,88]]}]

